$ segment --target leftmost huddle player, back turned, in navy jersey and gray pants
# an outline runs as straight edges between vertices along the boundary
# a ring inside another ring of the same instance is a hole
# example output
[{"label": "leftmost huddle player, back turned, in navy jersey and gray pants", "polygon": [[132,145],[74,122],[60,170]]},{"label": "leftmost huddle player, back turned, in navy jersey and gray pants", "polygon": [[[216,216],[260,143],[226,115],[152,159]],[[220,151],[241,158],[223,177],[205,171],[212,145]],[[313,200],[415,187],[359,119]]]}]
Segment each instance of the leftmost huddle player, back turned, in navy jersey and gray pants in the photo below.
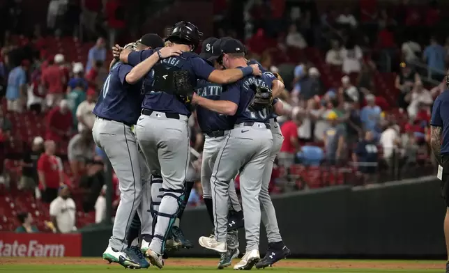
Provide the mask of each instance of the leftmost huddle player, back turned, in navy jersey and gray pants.
[{"label": "leftmost huddle player, back turned, in navy jersey and gray pants", "polygon": [[[154,34],[143,36],[137,43],[129,44],[127,50],[147,49],[163,45],[162,38]],[[174,49],[161,50],[155,54],[155,61],[162,57],[174,56]],[[153,64],[155,63],[153,62]],[[128,248],[126,232],[132,218],[142,200],[142,176],[139,163],[137,141],[132,132],[133,125],[139,118],[142,103],[142,81],[135,78],[132,67],[122,62],[111,66],[109,75],[103,84],[93,114],[96,121],[93,125],[93,139],[109,158],[119,178],[121,201],[116,212],[116,220],[109,246],[103,258],[109,263],[121,263],[125,267],[147,268],[149,263],[137,248]],[[143,166],[145,169],[145,166]],[[144,215],[141,215],[141,219]],[[137,250],[136,250],[137,249]]]}]

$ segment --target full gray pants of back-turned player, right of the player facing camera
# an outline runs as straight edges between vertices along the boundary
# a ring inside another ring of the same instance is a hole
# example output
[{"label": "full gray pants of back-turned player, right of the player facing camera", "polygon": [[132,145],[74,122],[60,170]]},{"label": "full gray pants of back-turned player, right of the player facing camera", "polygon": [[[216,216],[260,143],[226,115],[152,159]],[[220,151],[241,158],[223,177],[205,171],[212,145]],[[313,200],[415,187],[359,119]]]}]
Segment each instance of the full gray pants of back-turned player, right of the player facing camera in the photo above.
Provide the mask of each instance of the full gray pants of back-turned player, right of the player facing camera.
[{"label": "full gray pants of back-turned player, right of the player facing camera", "polygon": [[226,137],[211,177],[215,238],[226,242],[229,182],[240,170],[246,251],[259,249],[261,208],[259,193],[273,135],[264,123],[236,124]]}]

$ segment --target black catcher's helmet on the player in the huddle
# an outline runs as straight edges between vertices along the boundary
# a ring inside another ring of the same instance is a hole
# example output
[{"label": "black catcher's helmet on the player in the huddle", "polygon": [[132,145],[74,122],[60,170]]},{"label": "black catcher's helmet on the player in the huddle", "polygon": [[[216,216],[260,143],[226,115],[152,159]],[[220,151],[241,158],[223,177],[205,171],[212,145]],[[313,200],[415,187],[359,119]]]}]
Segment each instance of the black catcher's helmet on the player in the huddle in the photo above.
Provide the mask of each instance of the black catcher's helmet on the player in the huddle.
[{"label": "black catcher's helmet on the player in the huddle", "polygon": [[195,50],[195,48],[198,47],[201,36],[203,36],[203,33],[199,32],[195,24],[181,21],[174,24],[171,33],[165,41],[180,42],[185,45],[192,45],[193,50]]}]

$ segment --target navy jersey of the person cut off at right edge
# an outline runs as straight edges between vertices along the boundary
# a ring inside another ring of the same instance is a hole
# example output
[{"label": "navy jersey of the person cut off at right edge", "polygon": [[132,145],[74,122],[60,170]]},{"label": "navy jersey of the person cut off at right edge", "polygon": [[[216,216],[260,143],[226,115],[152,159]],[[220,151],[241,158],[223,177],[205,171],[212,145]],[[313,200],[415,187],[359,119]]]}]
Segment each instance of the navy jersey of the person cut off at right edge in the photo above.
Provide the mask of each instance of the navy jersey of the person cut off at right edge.
[{"label": "navy jersey of the person cut off at right edge", "polygon": [[441,155],[449,155],[449,91],[444,91],[434,102],[430,125],[442,127]]}]

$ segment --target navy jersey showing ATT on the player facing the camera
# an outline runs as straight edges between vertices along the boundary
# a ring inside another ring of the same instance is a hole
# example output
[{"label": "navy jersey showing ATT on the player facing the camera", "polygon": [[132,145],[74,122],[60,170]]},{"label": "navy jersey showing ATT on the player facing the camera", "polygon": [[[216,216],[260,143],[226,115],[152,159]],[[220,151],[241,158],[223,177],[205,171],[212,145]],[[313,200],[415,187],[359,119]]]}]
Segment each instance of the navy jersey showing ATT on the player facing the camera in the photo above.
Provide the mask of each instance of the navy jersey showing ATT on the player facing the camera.
[{"label": "navy jersey showing ATT on the player facing the camera", "polygon": [[[220,100],[222,95],[222,86],[213,84],[210,81],[199,79],[196,92],[203,98],[209,100]],[[230,118],[223,114],[218,114],[204,107],[197,107],[197,120],[201,131],[208,133],[214,131],[231,130],[234,125]]]}]

